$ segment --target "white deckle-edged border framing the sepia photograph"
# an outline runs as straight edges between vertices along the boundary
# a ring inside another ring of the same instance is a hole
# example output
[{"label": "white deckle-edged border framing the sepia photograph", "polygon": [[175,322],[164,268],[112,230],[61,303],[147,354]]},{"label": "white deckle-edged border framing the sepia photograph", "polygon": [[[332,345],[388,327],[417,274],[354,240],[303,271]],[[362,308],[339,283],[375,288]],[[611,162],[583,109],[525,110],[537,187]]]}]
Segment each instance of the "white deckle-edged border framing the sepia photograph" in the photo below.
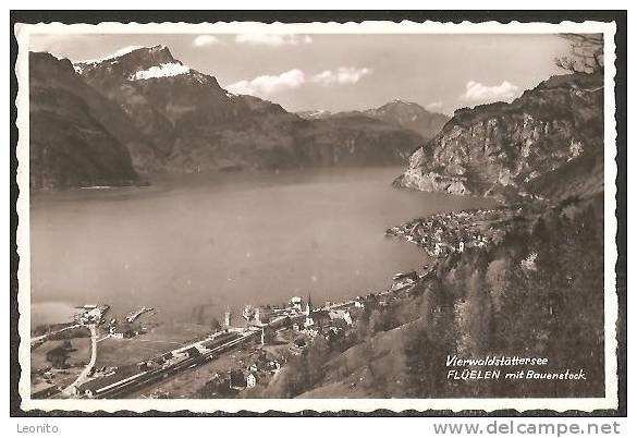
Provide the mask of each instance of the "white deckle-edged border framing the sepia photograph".
[{"label": "white deckle-edged border framing the sepia photograph", "polygon": [[[339,412],[343,410],[372,412],[390,410],[396,413],[406,410],[569,410],[591,412],[593,410],[617,409],[617,338],[616,321],[618,300],[615,283],[617,246],[615,235],[617,221],[616,186],[616,123],[615,123],[615,23],[586,21],[583,23],[439,23],[427,21],[395,22],[347,22],[347,23],[295,23],[280,22],[266,24],[256,22],[219,23],[100,23],[62,24],[38,23],[16,24],[15,35],[19,54],[15,74],[19,82],[16,98],[19,161],[16,181],[20,195],[16,203],[19,226],[16,233],[20,265],[19,278],[19,332],[21,343],[19,361],[22,368],[19,392],[24,411],[82,411],[82,412],[162,412],[191,411],[201,413],[248,411],[264,413],[278,411],[295,413],[304,410]],[[30,399],[30,260],[29,260],[29,114],[28,114],[28,47],[30,35],[36,34],[558,34],[558,33],[602,33],[604,35],[604,350],[605,350],[605,397],[578,399],[211,399],[211,400],[33,400]]]}]

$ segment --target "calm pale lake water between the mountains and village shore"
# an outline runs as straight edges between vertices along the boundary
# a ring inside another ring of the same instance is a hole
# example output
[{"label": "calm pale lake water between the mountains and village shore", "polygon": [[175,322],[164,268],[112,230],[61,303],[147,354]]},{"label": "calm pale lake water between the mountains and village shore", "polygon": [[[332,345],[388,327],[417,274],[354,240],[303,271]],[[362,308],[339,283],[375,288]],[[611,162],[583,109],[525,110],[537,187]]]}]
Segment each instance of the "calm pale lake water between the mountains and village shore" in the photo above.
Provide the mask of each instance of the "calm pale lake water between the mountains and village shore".
[{"label": "calm pale lake water between the mountains and village shore", "polygon": [[[427,256],[388,227],[491,200],[396,190],[400,168],[228,173],[32,194],[33,324],[69,306],[163,320],[380,291]],[[235,317],[237,317],[236,315]]]}]

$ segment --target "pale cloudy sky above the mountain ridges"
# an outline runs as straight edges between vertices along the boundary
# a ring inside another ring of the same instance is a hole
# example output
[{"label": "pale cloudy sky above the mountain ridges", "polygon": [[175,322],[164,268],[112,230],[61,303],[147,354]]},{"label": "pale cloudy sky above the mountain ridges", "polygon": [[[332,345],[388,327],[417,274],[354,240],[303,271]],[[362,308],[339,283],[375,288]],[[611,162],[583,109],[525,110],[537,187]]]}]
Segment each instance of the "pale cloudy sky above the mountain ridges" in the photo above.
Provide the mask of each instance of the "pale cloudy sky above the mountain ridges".
[{"label": "pale cloudy sky above the mountain ridges", "polygon": [[348,111],[391,100],[452,114],[511,101],[564,72],[556,35],[94,34],[33,35],[30,50],[82,61],[130,46],[166,45],[187,66],[236,94],[289,111]]}]

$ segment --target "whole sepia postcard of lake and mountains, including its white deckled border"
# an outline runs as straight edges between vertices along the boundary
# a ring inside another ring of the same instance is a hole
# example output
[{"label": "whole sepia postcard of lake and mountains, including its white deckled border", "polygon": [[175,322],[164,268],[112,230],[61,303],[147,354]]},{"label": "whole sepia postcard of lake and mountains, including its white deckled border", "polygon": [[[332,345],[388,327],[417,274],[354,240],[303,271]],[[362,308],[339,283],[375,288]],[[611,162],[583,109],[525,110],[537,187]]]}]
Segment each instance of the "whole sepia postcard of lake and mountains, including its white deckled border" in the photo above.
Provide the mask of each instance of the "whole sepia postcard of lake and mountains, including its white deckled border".
[{"label": "whole sepia postcard of lake and mountains, including its white deckled border", "polygon": [[22,410],[617,409],[615,23],[14,32]]}]

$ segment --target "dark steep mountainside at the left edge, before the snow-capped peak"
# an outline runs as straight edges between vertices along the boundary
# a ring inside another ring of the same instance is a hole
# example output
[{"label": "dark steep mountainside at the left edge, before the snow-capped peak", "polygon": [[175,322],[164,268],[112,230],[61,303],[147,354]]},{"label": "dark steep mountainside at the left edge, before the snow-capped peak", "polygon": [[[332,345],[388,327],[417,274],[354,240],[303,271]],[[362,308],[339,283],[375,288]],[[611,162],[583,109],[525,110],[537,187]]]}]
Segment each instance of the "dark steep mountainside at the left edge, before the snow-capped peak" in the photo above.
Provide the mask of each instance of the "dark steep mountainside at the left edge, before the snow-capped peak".
[{"label": "dark steep mountainside at the left edge, before the snow-capped peak", "polygon": [[128,118],[69,60],[29,54],[30,187],[135,183],[128,149],[146,147]]}]

